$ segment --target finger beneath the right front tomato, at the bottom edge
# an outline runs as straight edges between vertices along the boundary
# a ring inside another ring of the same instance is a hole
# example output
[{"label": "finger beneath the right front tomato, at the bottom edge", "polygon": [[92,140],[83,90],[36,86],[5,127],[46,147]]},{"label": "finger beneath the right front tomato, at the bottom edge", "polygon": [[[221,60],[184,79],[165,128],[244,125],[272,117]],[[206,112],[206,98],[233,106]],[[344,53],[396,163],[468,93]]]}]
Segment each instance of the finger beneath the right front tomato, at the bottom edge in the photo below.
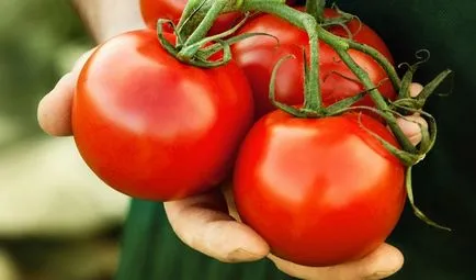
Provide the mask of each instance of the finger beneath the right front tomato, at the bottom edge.
[{"label": "finger beneath the right front tomato, at the bottom edge", "polygon": [[375,280],[398,271],[404,265],[401,253],[384,244],[365,258],[332,267],[304,267],[270,255],[269,258],[284,273],[307,280]]}]

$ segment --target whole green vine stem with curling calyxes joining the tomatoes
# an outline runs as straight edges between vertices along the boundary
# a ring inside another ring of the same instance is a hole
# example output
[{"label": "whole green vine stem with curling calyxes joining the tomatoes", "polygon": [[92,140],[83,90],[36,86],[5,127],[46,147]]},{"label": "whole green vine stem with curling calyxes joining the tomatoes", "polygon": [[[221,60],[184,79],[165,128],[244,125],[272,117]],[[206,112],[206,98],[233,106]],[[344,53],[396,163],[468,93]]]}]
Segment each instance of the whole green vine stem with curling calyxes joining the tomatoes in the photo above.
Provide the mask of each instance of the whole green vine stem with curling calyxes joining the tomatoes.
[{"label": "whole green vine stem with curling calyxes joining the tomatoes", "polygon": [[[328,32],[325,29],[326,25],[340,25],[342,24],[342,21],[345,22],[351,20],[352,15],[343,14],[342,18],[337,21],[327,21],[324,18],[325,4],[325,0],[308,0],[306,2],[307,13],[304,13],[294,8],[287,7],[285,4],[285,0],[190,0],[182,14],[178,27],[175,29],[178,43],[173,46],[165,38],[161,29],[163,21],[159,21],[159,40],[162,43],[165,49],[182,61],[199,67],[216,67],[224,65],[231,59],[230,44],[251,35],[269,35],[264,33],[256,33],[229,37],[239,27],[239,25],[243,23],[241,22],[235,26],[235,29],[231,29],[227,32],[211,37],[205,37],[218,15],[222,13],[237,11],[265,12],[274,14],[295,26],[305,30],[309,40],[309,59],[307,59],[306,53],[303,53],[305,72],[304,105],[303,108],[298,109],[280,103],[274,96],[274,82],[276,80],[279,67],[286,59],[293,58],[293,56],[283,57],[273,69],[270,83],[270,101],[279,109],[293,114],[296,117],[320,117],[326,115],[341,114],[351,110],[363,109],[370,110],[371,112],[382,116],[398,139],[403,149],[399,149],[385,142],[378,135],[372,132],[370,133],[381,141],[384,147],[395,155],[400,163],[408,167],[406,187],[415,214],[430,225],[447,229],[446,227],[440,226],[429,220],[415,205],[411,190],[411,166],[418,164],[424,158],[427,153],[433,147],[437,136],[437,122],[434,117],[423,112],[421,108],[424,105],[427,98],[435,90],[443,79],[450,75],[451,71],[445,70],[440,74],[423,88],[419,97],[412,98],[409,92],[409,87],[413,72],[418,68],[417,66],[426,61],[428,58],[423,58],[423,61],[419,61],[413,66],[409,66],[408,72],[404,76],[404,79],[400,80],[394,66],[378,51],[371,46],[354,42],[351,34],[349,34],[349,38],[344,38]],[[345,29],[345,26],[343,27]],[[319,40],[336,51],[340,59],[349,67],[349,69],[363,85],[365,89],[364,92],[343,99],[328,108],[324,108],[319,78]],[[378,90],[379,85],[375,86],[373,83],[369,74],[361,66],[359,66],[349,54],[349,49],[355,49],[371,56],[387,72],[394,89],[398,92],[398,99],[396,101],[389,102],[388,100],[385,100]],[[223,59],[220,61],[207,60],[214,53],[219,51],[223,51]],[[354,107],[354,103],[365,94],[371,96],[376,108]],[[398,110],[400,110],[400,112],[401,110],[405,110],[405,113],[418,112],[428,121],[428,131],[420,125],[422,141],[417,147],[411,144],[411,142],[398,126],[396,117],[399,116],[405,119],[405,116],[401,115]]]}]

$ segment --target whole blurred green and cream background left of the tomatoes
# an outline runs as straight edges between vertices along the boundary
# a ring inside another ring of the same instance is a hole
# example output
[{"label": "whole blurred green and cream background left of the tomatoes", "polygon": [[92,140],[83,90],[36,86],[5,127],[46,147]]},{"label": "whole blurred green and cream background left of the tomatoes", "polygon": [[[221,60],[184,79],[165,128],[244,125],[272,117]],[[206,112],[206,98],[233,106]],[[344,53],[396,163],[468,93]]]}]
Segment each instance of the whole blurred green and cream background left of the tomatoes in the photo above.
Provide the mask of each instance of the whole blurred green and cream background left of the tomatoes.
[{"label": "whole blurred green and cream background left of the tomatoes", "polygon": [[102,192],[72,141],[36,122],[39,99],[93,46],[69,2],[0,0],[1,280],[100,280],[116,269],[127,201]]}]

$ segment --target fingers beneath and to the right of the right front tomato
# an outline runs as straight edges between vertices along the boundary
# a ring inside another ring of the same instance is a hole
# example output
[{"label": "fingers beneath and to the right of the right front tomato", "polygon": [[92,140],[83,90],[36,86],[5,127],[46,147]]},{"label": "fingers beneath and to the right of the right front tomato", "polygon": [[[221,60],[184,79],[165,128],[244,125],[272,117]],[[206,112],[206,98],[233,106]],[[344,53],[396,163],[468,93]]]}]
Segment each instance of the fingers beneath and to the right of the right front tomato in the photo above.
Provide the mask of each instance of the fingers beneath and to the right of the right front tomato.
[{"label": "fingers beneath and to the right of the right front tomato", "polygon": [[[421,89],[420,85],[411,85],[411,96],[417,96]],[[421,141],[420,125],[428,126],[418,115],[397,122],[413,145]],[[331,267],[305,267],[280,259],[270,254],[268,244],[257,233],[239,223],[229,187],[224,186],[222,193],[215,191],[166,203],[169,221],[185,244],[226,262],[252,261],[268,256],[283,272],[309,280],[383,279],[403,266],[401,253],[388,244],[363,259]]]}]

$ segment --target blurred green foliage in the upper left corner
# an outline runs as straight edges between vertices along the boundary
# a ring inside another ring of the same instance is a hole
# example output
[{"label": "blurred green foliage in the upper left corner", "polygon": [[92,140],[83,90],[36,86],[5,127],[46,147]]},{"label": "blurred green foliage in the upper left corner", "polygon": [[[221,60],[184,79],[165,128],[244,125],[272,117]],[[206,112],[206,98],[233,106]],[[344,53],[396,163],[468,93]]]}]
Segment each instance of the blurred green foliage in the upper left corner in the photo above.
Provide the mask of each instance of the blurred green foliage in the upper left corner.
[{"label": "blurred green foliage in the upper left corner", "polygon": [[39,133],[38,100],[91,42],[69,1],[0,0],[0,116],[20,126],[16,142]]}]

